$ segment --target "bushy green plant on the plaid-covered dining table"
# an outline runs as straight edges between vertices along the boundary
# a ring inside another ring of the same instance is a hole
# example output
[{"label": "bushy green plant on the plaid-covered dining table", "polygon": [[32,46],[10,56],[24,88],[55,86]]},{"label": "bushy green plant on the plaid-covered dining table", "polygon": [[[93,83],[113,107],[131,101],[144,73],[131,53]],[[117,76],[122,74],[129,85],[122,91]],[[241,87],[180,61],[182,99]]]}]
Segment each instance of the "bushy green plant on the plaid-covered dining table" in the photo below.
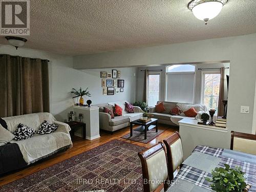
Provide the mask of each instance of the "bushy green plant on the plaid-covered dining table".
[{"label": "bushy green plant on the plaid-covered dining table", "polygon": [[230,168],[228,164],[224,165],[225,168],[216,167],[212,170],[212,178],[206,178],[211,189],[217,192],[242,192],[246,183],[241,167]]}]

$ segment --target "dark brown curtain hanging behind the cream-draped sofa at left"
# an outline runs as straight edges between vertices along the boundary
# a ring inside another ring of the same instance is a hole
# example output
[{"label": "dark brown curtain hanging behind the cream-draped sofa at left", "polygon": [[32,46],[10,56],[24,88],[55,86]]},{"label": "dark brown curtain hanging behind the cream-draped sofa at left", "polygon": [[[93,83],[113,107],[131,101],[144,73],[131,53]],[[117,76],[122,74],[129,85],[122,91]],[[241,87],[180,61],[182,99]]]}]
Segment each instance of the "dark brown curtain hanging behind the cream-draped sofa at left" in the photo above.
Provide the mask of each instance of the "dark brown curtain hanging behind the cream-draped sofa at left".
[{"label": "dark brown curtain hanging behind the cream-draped sofa at left", "polygon": [[49,112],[48,61],[0,55],[0,117]]}]

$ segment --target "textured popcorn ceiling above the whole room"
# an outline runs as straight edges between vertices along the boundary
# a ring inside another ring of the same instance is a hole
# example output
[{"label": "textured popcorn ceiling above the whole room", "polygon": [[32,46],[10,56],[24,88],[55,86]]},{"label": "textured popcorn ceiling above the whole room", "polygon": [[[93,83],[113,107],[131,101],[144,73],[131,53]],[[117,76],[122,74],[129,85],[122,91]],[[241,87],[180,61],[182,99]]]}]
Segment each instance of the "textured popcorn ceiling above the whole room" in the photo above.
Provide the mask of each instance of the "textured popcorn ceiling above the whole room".
[{"label": "textured popcorn ceiling above the whole room", "polygon": [[[24,47],[83,55],[256,33],[256,0],[229,0],[207,26],[189,1],[30,0]],[[8,44],[3,36],[0,44]]]}]

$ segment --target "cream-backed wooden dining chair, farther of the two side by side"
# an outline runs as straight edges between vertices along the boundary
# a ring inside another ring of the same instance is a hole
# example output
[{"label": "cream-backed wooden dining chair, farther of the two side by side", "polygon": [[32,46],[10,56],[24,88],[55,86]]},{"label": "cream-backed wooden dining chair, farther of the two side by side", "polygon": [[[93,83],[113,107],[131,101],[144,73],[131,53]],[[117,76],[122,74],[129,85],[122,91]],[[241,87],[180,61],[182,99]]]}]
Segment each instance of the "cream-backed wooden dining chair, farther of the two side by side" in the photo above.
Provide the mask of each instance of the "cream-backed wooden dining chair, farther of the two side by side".
[{"label": "cream-backed wooden dining chair, farther of the two side by side", "polygon": [[175,132],[170,137],[163,140],[167,151],[169,179],[174,179],[175,170],[182,166],[183,150],[180,134]]}]

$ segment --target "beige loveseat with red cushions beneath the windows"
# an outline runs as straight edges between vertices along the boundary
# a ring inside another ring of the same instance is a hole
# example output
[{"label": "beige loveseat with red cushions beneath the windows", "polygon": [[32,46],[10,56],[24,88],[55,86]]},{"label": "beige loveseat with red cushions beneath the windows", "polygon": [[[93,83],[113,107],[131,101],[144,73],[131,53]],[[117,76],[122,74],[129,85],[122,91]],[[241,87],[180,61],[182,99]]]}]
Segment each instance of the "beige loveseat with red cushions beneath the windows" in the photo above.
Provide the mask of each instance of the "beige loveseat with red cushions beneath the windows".
[{"label": "beige loveseat with red cushions beneath the windows", "polygon": [[[207,107],[204,104],[191,104],[191,103],[176,103],[176,102],[168,102],[168,101],[158,101],[157,103],[163,102],[165,111],[161,113],[156,112],[156,108],[150,108],[150,112],[148,114],[154,115],[154,118],[159,119],[159,123],[169,124],[169,125],[179,125],[179,121],[184,118],[188,119],[201,119],[201,115],[203,113],[208,113]],[[175,106],[179,106],[182,111],[187,111],[192,106],[198,112],[196,117],[186,117],[184,113],[180,115],[170,115],[170,110],[175,108]]]}]

